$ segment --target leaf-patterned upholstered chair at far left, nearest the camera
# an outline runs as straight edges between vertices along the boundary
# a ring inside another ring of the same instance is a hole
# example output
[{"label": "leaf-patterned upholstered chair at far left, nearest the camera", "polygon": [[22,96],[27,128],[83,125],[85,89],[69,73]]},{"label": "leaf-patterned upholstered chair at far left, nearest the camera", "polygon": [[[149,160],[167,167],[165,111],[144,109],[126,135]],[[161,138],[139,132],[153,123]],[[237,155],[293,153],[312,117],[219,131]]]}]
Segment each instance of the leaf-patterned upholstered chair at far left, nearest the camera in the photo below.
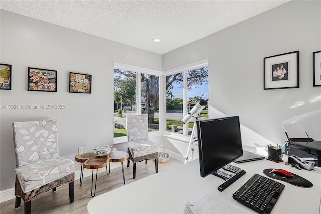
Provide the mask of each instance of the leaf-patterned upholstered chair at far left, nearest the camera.
[{"label": "leaf-patterned upholstered chair at far left, nearest the camera", "polygon": [[43,192],[69,184],[69,202],[74,202],[75,164],[59,156],[57,120],[13,123],[16,156],[15,208],[25,202],[31,212],[31,199]]}]

